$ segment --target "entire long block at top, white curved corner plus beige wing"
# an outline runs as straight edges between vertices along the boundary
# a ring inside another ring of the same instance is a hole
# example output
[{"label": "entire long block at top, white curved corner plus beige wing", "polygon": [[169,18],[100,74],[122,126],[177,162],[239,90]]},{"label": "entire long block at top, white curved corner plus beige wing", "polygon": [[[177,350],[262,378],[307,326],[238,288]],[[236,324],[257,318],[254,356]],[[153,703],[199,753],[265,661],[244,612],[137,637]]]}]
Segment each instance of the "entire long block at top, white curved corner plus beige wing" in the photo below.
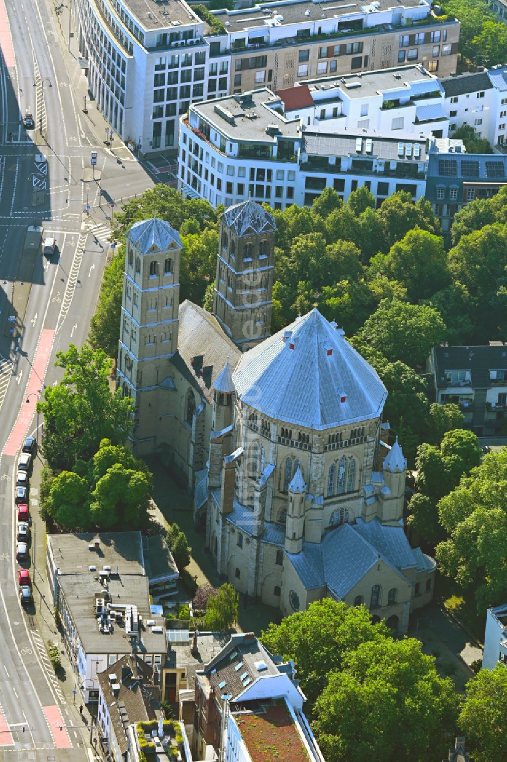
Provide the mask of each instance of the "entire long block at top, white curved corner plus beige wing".
[{"label": "entire long block at top, white curved corner plus beige wing", "polygon": [[218,32],[185,0],[76,0],[74,15],[91,94],[143,155],[175,151],[178,117],[206,98],[414,62],[456,70],[459,23],[427,0],[283,0],[215,11]]}]

